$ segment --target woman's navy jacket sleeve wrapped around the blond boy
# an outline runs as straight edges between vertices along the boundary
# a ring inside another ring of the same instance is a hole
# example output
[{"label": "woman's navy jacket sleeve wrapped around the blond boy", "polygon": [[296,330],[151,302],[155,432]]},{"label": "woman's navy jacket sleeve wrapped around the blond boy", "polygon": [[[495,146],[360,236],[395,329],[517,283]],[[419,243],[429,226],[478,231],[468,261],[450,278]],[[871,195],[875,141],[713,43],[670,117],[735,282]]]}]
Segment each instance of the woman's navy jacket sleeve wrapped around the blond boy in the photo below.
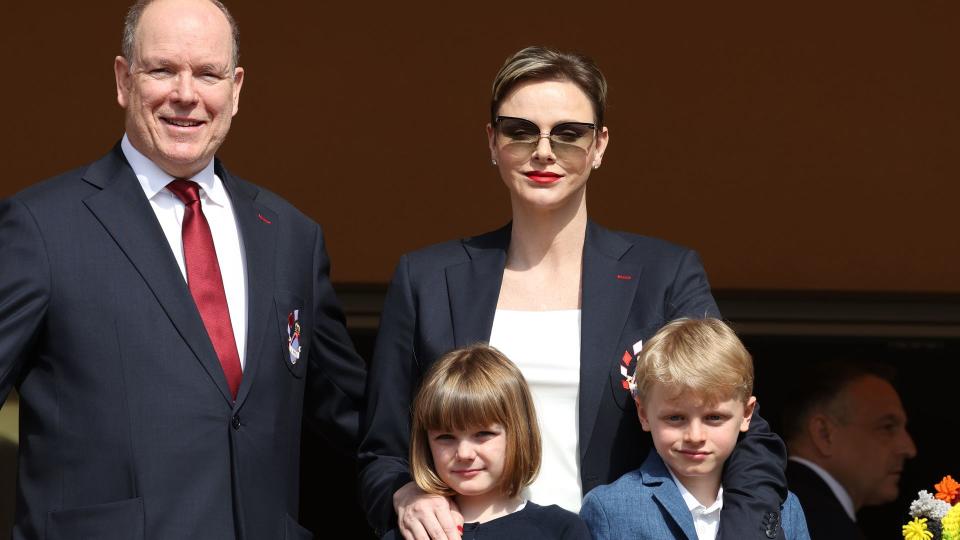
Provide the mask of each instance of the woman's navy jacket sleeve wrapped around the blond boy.
[{"label": "woman's navy jacket sleeve wrapped around the blond boy", "polygon": [[[666,320],[720,316],[695,252],[688,251],[681,259],[670,291]],[[764,515],[779,512],[787,497],[786,447],[759,412],[757,407],[749,431],[741,435],[723,472],[723,519],[718,536],[722,540],[767,539]],[[777,537],[783,538],[782,534]]]}]

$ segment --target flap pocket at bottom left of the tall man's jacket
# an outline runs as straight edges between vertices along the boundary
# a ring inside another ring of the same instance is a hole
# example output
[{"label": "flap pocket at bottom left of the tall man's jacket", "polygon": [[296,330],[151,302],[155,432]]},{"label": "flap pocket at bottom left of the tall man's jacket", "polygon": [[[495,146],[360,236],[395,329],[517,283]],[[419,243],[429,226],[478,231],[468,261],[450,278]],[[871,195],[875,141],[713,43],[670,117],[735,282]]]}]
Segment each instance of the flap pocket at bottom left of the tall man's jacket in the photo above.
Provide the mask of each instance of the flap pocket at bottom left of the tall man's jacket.
[{"label": "flap pocket at bottom left of the tall man's jacket", "polygon": [[127,499],[92,506],[50,512],[49,540],[143,540],[143,499]]}]

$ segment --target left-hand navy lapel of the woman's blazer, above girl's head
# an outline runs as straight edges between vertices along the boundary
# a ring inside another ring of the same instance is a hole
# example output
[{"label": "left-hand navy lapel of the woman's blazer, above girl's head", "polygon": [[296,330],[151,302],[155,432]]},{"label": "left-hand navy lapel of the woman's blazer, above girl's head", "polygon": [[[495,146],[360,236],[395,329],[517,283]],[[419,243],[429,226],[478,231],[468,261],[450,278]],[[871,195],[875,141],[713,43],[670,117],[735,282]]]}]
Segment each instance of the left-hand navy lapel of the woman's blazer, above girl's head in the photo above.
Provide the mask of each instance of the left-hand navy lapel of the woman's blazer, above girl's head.
[{"label": "left-hand navy lapel of the woman's blazer, above girl's head", "polygon": [[470,260],[446,268],[456,347],[489,341],[507,262],[510,226],[464,241]]}]

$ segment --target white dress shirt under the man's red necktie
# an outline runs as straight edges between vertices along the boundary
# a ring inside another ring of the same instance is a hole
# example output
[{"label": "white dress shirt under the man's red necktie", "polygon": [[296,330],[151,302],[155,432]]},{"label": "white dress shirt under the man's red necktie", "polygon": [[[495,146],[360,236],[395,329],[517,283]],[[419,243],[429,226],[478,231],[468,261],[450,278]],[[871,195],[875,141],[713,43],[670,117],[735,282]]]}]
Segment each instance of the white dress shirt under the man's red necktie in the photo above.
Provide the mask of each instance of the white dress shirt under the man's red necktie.
[{"label": "white dress shirt under the man's red necktie", "polygon": [[[183,213],[186,206],[166,187],[173,177],[165,173],[154,162],[141,154],[130,144],[127,136],[120,142],[123,155],[133,168],[140,181],[143,193],[150,201],[153,213],[163,228],[173,256],[180,266],[183,279],[187,279],[187,268],[183,262]],[[240,367],[246,366],[247,349],[247,268],[243,258],[243,242],[237,229],[237,219],[233,214],[233,204],[223,187],[223,182],[213,172],[213,161],[207,164],[193,178],[200,185],[200,207],[210,224],[213,245],[217,250],[217,262],[223,278],[223,290],[227,294],[227,309],[230,311],[230,323],[233,336],[237,341],[237,353],[240,355]]]}]

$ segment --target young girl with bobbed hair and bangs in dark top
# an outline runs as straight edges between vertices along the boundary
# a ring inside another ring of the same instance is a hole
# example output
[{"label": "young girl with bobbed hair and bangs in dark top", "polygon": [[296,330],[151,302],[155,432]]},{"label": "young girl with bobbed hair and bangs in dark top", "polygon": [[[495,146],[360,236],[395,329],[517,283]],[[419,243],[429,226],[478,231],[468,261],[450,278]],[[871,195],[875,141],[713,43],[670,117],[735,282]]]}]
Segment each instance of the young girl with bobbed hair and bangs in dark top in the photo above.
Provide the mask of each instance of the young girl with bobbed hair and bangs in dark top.
[{"label": "young girl with bobbed hair and bangs in dark top", "polygon": [[524,499],[540,457],[530,390],[506,356],[473,345],[430,368],[413,403],[411,474],[425,492],[453,498],[463,539],[589,540],[573,512]]}]

